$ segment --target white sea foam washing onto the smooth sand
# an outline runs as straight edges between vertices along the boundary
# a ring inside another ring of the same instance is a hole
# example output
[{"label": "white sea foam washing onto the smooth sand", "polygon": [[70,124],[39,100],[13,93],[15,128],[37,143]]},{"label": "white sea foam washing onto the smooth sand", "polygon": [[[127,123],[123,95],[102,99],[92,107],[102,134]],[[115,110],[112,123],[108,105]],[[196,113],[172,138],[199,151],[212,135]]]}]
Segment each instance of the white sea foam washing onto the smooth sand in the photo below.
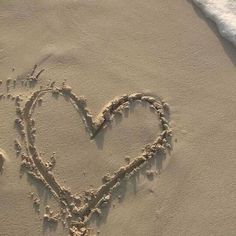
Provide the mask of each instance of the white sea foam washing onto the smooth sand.
[{"label": "white sea foam washing onto the smooth sand", "polygon": [[220,34],[236,46],[236,0],[193,0],[213,20]]}]

